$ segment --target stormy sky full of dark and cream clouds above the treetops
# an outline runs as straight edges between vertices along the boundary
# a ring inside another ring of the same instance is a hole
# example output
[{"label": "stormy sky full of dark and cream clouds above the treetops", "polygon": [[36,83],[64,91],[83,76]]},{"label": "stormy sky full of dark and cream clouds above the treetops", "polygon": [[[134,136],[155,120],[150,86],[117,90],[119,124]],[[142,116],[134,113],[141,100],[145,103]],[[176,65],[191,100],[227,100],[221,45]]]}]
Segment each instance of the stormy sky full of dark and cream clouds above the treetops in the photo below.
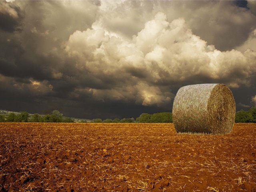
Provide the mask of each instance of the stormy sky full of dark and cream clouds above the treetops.
[{"label": "stormy sky full of dark and cream clouds above the treetops", "polygon": [[224,83],[248,110],[255,82],[256,1],[0,1],[0,109],[136,118]]}]

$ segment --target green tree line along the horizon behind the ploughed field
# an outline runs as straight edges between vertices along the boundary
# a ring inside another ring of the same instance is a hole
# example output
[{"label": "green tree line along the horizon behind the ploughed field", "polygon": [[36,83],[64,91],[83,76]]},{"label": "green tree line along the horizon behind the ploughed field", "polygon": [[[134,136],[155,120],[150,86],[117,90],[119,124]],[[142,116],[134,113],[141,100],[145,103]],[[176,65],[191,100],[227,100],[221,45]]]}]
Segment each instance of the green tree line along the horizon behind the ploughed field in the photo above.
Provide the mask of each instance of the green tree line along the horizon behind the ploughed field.
[{"label": "green tree line along the horizon behind the ploughed field", "polygon": [[[74,122],[74,119],[69,117],[64,117],[62,113],[58,110],[52,111],[51,114],[40,115],[33,114],[30,115],[28,112],[21,112],[19,114],[15,114],[11,112],[10,114],[0,115],[0,122]],[[86,122],[86,121],[83,121]],[[172,123],[172,113],[171,112],[159,112],[154,114],[142,113],[136,120],[134,118],[115,118],[110,119],[107,118],[102,120],[100,118],[96,118],[91,120],[90,122],[95,123]],[[240,110],[236,112],[236,123],[251,123],[256,122],[256,107],[251,107],[248,111]]]}]

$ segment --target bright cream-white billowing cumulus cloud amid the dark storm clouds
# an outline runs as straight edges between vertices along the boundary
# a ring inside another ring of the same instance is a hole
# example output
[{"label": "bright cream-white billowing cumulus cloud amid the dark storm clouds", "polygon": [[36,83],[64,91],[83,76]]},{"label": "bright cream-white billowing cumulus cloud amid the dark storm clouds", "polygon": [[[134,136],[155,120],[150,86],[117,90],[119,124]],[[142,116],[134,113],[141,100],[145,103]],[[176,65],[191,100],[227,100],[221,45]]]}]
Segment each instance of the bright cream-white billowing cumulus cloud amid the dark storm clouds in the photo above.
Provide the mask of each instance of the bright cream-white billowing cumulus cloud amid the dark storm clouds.
[{"label": "bright cream-white billowing cumulus cloud amid the dark storm clouds", "polygon": [[[171,91],[166,94],[161,84],[206,77],[237,88],[249,86],[250,76],[256,72],[253,50],[221,52],[193,34],[184,18],[168,21],[163,12],[147,21],[130,40],[118,34],[111,36],[95,25],[76,31],[66,42],[66,52],[77,59],[77,67],[97,73],[98,78],[115,76],[127,88],[138,88],[136,96],[129,96],[132,92],[119,85],[108,91],[94,89],[95,96],[103,97],[104,92],[113,100],[130,97],[146,106],[172,100]],[[140,77],[135,71],[144,75]]]}]

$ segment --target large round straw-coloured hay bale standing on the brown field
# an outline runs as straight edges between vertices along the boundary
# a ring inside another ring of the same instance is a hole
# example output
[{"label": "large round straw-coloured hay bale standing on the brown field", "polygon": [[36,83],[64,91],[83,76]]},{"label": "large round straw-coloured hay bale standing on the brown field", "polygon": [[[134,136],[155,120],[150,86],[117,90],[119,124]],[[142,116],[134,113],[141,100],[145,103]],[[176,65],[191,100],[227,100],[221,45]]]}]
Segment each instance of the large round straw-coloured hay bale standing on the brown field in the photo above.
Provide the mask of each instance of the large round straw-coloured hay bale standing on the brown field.
[{"label": "large round straw-coloured hay bale standing on the brown field", "polygon": [[224,84],[196,84],[180,88],[174,98],[172,119],[176,131],[228,134],[234,126],[236,104]]}]

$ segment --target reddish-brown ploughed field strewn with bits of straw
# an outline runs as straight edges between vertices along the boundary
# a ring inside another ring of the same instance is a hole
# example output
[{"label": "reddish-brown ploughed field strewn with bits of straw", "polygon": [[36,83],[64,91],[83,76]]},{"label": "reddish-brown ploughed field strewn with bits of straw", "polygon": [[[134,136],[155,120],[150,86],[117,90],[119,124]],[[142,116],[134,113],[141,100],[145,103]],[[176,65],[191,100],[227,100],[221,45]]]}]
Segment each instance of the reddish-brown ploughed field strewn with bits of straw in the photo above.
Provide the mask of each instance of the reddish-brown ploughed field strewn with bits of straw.
[{"label": "reddish-brown ploughed field strewn with bits of straw", "polygon": [[256,124],[0,123],[0,191],[256,191]]}]

